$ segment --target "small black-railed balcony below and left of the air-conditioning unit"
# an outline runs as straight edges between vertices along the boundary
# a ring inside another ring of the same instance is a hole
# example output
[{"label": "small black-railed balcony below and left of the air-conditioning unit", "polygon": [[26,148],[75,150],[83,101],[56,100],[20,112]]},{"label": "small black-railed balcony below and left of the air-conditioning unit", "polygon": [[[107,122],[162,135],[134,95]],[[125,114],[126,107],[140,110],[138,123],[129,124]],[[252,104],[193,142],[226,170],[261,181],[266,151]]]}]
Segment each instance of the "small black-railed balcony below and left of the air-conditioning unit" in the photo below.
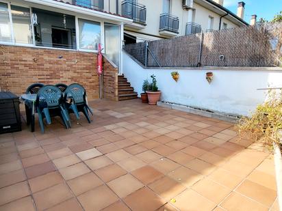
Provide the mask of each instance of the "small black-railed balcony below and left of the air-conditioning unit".
[{"label": "small black-railed balcony below and left of the air-conditioning unit", "polygon": [[179,29],[179,18],[164,13],[159,17],[159,33],[165,36],[177,36]]}]

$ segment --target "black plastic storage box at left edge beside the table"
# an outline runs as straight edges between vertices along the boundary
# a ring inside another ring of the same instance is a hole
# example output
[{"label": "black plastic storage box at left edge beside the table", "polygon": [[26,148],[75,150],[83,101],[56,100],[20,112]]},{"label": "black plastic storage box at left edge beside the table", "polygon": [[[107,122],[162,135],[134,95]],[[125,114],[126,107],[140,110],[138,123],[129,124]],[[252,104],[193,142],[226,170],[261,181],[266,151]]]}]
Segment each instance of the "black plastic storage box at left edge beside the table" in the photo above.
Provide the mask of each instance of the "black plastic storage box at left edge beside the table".
[{"label": "black plastic storage box at left edge beside the table", "polygon": [[19,103],[12,92],[0,92],[0,133],[21,131]]}]

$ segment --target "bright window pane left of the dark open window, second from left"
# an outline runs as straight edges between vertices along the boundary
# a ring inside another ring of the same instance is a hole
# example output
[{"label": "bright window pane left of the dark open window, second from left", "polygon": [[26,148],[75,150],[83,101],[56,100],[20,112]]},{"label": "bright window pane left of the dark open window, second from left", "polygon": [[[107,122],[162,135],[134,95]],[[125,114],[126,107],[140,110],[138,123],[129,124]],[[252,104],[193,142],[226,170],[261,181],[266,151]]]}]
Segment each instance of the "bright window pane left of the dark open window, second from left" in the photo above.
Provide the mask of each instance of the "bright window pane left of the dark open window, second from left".
[{"label": "bright window pane left of the dark open window, second from left", "polygon": [[29,8],[11,5],[14,42],[32,44],[32,29]]}]

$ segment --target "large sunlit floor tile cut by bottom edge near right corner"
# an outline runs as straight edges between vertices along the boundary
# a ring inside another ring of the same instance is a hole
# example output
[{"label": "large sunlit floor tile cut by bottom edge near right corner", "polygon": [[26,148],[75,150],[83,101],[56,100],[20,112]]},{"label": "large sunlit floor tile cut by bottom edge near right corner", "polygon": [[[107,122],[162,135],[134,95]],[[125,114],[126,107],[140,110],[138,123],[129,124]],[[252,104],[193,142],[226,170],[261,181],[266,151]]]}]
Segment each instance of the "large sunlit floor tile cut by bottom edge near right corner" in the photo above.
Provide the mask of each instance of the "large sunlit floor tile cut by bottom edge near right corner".
[{"label": "large sunlit floor tile cut by bottom edge near right corner", "polygon": [[231,193],[231,195],[229,195],[229,197],[227,197],[227,199],[225,199],[225,201],[223,201],[220,206],[222,206],[222,208],[225,208],[226,210],[231,211],[268,210],[267,207],[261,205],[260,203],[257,203],[252,199],[244,197],[243,195],[240,195],[240,193],[235,192]]}]

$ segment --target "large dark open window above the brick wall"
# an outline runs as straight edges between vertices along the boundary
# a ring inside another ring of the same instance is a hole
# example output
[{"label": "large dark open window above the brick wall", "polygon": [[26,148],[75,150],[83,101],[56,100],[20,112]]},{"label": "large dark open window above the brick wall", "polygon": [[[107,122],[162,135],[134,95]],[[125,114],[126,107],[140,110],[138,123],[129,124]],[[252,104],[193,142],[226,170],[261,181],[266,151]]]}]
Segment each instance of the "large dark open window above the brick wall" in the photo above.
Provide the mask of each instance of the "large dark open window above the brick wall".
[{"label": "large dark open window above the brick wall", "polygon": [[34,17],[34,38],[37,46],[76,49],[75,16],[32,9]]}]

